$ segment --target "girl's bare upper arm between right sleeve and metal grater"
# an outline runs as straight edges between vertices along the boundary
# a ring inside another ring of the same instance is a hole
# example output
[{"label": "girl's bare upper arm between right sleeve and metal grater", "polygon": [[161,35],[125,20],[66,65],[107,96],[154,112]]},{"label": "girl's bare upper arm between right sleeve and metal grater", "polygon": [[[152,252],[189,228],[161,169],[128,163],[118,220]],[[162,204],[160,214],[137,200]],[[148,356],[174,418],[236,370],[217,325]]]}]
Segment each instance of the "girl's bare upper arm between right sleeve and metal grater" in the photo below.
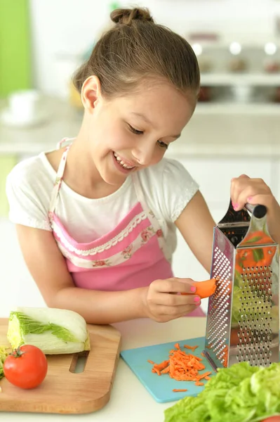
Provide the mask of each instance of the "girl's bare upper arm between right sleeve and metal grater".
[{"label": "girl's bare upper arm between right sleeve and metal grater", "polygon": [[211,217],[204,197],[198,191],[175,221],[183,238],[189,245],[197,260],[211,272],[213,228],[215,222]]}]

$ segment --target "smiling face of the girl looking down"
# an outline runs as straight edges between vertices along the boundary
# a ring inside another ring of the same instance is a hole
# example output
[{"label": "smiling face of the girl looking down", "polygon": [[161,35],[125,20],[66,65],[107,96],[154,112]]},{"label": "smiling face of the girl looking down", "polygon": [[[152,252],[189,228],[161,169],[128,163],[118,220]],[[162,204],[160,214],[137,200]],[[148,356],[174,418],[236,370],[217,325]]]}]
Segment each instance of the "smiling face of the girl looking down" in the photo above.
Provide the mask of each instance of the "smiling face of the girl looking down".
[{"label": "smiling face of the girl looking down", "polygon": [[87,119],[90,153],[107,184],[120,185],[133,172],[154,165],[192,117],[194,94],[170,84],[142,84],[137,93],[105,100],[101,95]]}]

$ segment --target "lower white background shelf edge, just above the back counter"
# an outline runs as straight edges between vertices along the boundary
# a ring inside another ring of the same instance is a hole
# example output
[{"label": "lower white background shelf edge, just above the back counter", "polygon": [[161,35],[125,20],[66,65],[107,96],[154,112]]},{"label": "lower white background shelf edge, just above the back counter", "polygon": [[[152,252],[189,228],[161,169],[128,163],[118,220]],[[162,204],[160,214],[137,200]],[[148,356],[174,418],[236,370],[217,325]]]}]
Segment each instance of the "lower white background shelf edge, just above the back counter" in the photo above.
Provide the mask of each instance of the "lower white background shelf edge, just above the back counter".
[{"label": "lower white background shelf edge, just above the back counter", "polygon": [[280,117],[280,104],[277,103],[198,103],[195,115],[269,115]]}]

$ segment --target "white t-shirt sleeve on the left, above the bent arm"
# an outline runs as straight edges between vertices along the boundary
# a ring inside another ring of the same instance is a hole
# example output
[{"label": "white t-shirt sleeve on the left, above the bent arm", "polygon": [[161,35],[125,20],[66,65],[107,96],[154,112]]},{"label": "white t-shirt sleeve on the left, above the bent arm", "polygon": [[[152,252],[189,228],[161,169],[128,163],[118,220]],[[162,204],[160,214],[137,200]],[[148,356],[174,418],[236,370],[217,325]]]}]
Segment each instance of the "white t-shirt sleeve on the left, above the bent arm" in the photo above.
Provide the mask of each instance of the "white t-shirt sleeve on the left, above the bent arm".
[{"label": "white t-shirt sleeve on the left, above the bent arm", "polygon": [[51,231],[48,220],[49,181],[40,177],[36,158],[18,163],[6,179],[9,219],[14,224]]}]

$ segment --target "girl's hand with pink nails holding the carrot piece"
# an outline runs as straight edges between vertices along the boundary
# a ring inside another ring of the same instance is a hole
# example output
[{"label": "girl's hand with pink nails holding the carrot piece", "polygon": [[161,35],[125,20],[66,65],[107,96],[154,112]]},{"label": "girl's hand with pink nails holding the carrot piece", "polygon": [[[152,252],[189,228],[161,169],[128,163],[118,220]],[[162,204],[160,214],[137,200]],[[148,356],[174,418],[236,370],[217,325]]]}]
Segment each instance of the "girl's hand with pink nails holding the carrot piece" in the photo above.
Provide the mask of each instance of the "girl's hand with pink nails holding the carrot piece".
[{"label": "girl's hand with pink nails holding the carrot piece", "polygon": [[[195,295],[192,279],[155,280],[144,290],[144,313],[157,322],[171,321],[200,305],[199,296]],[[189,293],[180,295],[178,293]]]}]

